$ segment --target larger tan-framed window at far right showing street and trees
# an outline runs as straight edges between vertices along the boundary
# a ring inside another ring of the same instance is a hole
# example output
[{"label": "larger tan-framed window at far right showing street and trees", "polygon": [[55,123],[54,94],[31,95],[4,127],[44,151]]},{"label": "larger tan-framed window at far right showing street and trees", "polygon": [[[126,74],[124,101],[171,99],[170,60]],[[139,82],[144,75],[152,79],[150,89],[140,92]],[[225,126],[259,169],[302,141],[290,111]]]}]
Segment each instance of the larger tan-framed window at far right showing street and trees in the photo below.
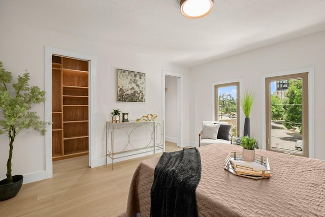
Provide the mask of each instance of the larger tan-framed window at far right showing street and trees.
[{"label": "larger tan-framed window at far right showing street and trees", "polygon": [[266,149],[308,157],[308,72],[266,78],[265,87]]}]

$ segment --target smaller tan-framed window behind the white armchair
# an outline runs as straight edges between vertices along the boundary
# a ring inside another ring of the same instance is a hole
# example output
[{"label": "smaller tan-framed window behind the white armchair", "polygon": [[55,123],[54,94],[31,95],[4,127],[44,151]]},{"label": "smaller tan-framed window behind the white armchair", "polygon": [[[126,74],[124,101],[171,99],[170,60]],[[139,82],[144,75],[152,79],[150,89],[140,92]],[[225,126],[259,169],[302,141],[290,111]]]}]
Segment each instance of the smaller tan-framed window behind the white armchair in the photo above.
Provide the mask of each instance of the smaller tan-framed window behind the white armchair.
[{"label": "smaller tan-framed window behind the white armchair", "polygon": [[[239,137],[239,82],[214,85],[214,119],[233,125],[234,139]],[[235,141],[235,140],[234,140]]]}]

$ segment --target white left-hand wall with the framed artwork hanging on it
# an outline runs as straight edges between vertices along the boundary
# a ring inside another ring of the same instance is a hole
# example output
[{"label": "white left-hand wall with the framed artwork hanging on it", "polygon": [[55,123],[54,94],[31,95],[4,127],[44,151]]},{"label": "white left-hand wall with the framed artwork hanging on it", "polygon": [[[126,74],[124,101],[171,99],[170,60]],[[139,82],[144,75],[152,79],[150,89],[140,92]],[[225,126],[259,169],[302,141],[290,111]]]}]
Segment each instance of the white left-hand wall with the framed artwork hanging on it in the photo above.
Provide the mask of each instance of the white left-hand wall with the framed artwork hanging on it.
[{"label": "white left-hand wall with the framed artwork hanging on it", "polygon": [[[1,15],[0,15],[1,16]],[[19,20],[19,19],[18,19]],[[44,24],[46,25],[46,24]],[[96,56],[96,126],[95,158],[105,162],[105,123],[110,120],[113,109],[129,112],[129,120],[135,120],[144,114],[155,113],[162,117],[161,73],[168,70],[184,74],[183,102],[188,107],[188,69],[167,63],[158,57],[149,57],[120,50],[114,42],[111,46],[86,41],[70,35],[35,28],[16,22],[11,17],[1,17],[0,61],[4,68],[13,73],[13,77],[22,74],[25,69],[30,73],[30,84],[45,89],[45,46],[71,50]],[[146,102],[122,103],[115,99],[115,70],[127,69],[146,73]],[[48,99],[49,100],[49,99]],[[44,104],[32,108],[42,119],[45,117]],[[189,113],[185,111],[184,117]],[[188,126],[188,118],[184,126]],[[184,128],[184,138],[188,138],[188,128]],[[5,178],[9,145],[6,135],[0,135],[0,179]],[[22,131],[14,143],[13,174],[30,176],[29,181],[40,179],[34,174],[45,170],[45,138],[39,132]]]}]

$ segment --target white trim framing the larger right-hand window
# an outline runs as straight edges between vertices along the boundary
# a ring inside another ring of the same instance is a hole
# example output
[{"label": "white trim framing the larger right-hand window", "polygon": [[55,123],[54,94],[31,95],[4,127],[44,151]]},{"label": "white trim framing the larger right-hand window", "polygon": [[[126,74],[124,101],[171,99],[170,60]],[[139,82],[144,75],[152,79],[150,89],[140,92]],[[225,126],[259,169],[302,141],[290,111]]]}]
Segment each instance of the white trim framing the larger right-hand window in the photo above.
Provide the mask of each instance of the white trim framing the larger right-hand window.
[{"label": "white trim framing the larger right-hand window", "polygon": [[269,77],[277,77],[277,76],[284,76],[284,75],[292,75],[292,74],[299,74],[308,72],[308,153],[309,158],[315,158],[315,144],[314,144],[314,68],[302,68],[296,69],[291,71],[282,71],[282,72],[275,72],[271,74],[266,74],[262,76],[261,84],[262,84],[262,91],[264,91],[263,97],[261,97],[261,108],[262,108],[262,120],[261,120],[261,129],[262,129],[262,149],[266,150],[266,86],[265,86],[265,79]]}]

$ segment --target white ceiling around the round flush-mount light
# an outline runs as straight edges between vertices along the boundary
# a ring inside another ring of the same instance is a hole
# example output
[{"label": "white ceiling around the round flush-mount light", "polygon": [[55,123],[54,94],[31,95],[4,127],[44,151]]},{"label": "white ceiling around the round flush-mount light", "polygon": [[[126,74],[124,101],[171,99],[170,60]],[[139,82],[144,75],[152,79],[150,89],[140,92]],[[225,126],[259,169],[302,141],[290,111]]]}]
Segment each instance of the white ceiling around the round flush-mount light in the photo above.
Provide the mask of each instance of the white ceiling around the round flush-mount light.
[{"label": "white ceiling around the round flush-mount light", "polygon": [[200,19],[179,2],[0,0],[0,16],[187,67],[325,29],[325,0],[214,0]]}]

